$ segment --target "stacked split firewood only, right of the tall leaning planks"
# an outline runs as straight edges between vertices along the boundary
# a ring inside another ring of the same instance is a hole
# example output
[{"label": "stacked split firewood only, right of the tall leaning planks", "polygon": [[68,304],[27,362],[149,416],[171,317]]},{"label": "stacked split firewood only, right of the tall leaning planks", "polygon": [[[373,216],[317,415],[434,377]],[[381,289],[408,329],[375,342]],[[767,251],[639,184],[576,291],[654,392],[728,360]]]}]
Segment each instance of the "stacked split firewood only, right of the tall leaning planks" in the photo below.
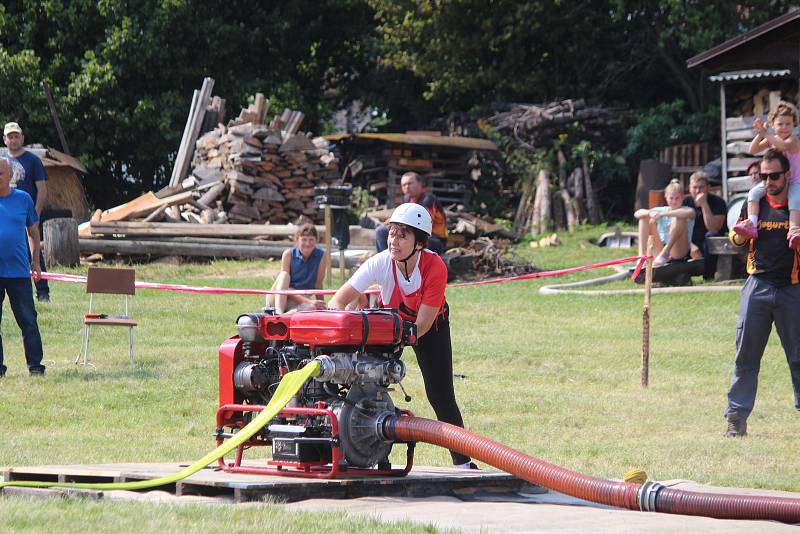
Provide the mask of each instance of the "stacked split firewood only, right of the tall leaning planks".
[{"label": "stacked split firewood only, right of the tall leaning planks", "polygon": [[322,222],[314,186],[339,179],[326,143],[284,138],[279,129],[251,122],[219,125],[197,141],[192,177],[200,185],[222,184],[214,186],[215,200],[227,207],[230,222],[284,224],[301,216]]}]

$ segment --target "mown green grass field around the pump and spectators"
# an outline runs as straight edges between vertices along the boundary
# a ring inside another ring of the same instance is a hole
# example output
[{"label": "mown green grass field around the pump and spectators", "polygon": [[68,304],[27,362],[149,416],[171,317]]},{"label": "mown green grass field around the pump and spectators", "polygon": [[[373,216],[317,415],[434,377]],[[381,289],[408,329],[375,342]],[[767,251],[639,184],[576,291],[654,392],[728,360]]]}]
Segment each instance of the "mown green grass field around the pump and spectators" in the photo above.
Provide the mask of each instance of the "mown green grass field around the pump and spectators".
[{"label": "mown green grass field around the pump and spectators", "polygon": [[[560,247],[520,254],[540,269],[635,255],[590,240],[604,228],[562,235]],[[275,262],[217,261],[206,265],[137,265],[137,278],[193,285],[268,288]],[[83,273],[83,269],[71,272]],[[738,311],[737,292],[653,296],[650,387],[639,386],[641,295],[541,296],[538,288],[609,274],[608,269],[560,278],[448,290],[453,325],[456,394],[471,430],[558,465],[621,478],[632,467],[652,479],[691,479],[722,486],[800,491],[794,410],[785,357],[773,335],[762,364],[751,436],[722,437]],[[698,281],[699,282],[699,281]],[[619,288],[634,287],[618,282]],[[637,286],[638,287],[638,286]],[[127,363],[121,331],[93,333],[96,369],[72,364],[81,343],[83,286],[54,283],[53,301],[39,307],[48,374],[30,379],[19,330],[6,305],[2,323],[6,365],[0,381],[0,465],[191,461],[213,448],[217,350],[235,333],[241,312],[263,305],[257,296],[203,296],[141,290],[133,301],[140,321],[137,364]],[[413,353],[406,353],[414,397],[410,408],[432,417]],[[399,406],[405,404],[401,399]],[[400,448],[393,460],[401,462]],[[757,459],[757,461],[755,460]],[[449,455],[417,447],[420,465],[448,465]],[[0,498],[0,527],[8,530],[140,530],[141,504],[32,503]],[[202,507],[197,507],[201,509]],[[159,506],[151,525],[191,525],[196,531],[244,530],[268,518],[285,531],[307,530],[318,518],[278,506],[231,512],[192,512]],[[110,519],[114,518],[114,519]],[[40,522],[41,520],[41,522]],[[38,528],[37,528],[38,525]],[[152,529],[150,527],[153,527]],[[375,531],[358,522],[354,531]],[[385,531],[413,531],[388,525]],[[324,530],[324,529],[323,529]]]}]

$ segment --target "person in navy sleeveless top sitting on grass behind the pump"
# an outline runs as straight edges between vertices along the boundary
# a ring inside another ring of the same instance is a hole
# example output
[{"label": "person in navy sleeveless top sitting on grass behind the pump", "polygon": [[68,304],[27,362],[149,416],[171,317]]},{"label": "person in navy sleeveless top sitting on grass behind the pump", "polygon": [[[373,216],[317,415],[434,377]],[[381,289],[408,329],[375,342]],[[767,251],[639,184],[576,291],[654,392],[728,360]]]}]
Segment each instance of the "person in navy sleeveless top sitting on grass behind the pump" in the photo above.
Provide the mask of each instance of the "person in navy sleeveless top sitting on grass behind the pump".
[{"label": "person in navy sleeveless top sitting on grass behind the pump", "polygon": [[[322,289],[325,277],[325,253],[317,247],[319,234],[313,224],[304,224],[294,234],[296,246],[281,255],[281,272],[272,284],[273,291],[286,289]],[[300,309],[324,309],[321,296],[311,299],[305,295],[267,295],[267,306],[275,313]]]}]

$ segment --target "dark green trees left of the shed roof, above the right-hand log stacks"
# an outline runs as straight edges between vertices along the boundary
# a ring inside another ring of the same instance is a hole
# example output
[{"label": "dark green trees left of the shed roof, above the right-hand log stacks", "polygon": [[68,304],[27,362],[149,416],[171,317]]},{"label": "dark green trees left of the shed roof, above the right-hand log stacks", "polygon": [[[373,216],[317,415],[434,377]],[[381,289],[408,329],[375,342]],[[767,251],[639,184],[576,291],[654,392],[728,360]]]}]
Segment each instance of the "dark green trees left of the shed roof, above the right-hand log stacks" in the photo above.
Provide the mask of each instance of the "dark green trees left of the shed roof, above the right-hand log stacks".
[{"label": "dark green trees left of the shed roof, above the right-hand log stacks", "polygon": [[369,0],[382,63],[440,111],[591,98],[647,107],[702,81],[687,58],[788,9],[780,0]]}]

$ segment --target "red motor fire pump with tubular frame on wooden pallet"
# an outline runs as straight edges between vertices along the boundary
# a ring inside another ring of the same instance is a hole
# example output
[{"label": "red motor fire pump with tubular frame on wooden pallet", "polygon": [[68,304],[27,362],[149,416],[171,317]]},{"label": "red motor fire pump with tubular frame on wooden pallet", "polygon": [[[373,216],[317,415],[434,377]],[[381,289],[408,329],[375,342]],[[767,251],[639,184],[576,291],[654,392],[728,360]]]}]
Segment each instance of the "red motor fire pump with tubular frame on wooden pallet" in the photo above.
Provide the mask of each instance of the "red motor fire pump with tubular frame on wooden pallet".
[{"label": "red motor fire pump with tubular frame on wooden pallet", "polygon": [[[217,445],[264,409],[286,373],[312,360],[321,370],[235,450],[233,462],[219,460],[223,470],[315,478],[410,471],[414,443],[406,443],[405,468],[393,469],[389,453],[397,440],[388,441],[381,429],[389,418],[410,415],[394,406],[389,392],[393,384],[402,389],[400,356],[416,342],[416,325],[390,309],[285,315],[266,309],[239,316],[237,329],[219,350]],[[244,450],[259,446],[272,447],[267,465],[242,465]]]}]

